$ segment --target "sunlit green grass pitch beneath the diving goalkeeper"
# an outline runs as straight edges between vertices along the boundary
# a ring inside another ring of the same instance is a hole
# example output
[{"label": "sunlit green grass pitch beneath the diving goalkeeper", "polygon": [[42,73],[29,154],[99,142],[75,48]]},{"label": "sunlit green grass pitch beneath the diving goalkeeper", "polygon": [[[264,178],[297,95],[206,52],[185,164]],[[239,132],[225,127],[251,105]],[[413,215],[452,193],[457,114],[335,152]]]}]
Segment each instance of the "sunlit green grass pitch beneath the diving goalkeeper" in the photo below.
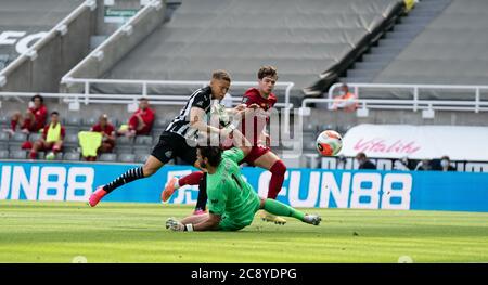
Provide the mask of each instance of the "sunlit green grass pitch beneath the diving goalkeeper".
[{"label": "sunlit green grass pitch beneath the diving goalkeeper", "polygon": [[170,232],[191,207],[0,200],[0,262],[488,261],[488,213],[311,209],[312,226],[255,219],[239,232]]}]

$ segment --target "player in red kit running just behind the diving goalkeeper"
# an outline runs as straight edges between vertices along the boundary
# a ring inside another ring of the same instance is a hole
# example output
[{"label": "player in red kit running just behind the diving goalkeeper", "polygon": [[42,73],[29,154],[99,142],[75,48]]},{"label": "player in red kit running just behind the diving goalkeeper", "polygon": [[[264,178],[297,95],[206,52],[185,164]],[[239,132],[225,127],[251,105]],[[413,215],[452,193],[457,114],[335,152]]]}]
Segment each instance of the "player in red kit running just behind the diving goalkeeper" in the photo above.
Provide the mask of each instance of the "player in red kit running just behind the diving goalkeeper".
[{"label": "player in red kit running just behind the diving goalkeeper", "polygon": [[[237,129],[252,142],[253,147],[240,164],[246,163],[249,166],[257,166],[269,170],[271,172],[271,180],[268,189],[268,198],[275,199],[283,185],[286,166],[271,152],[269,147],[270,138],[266,133],[265,128],[269,121],[269,111],[277,103],[277,96],[272,93],[278,80],[277,68],[273,66],[262,66],[258,70],[257,77],[258,88],[249,88],[243,95],[242,103],[245,104],[247,111]],[[249,116],[249,114],[252,115]],[[207,196],[206,191],[202,191],[202,185],[205,184],[206,180],[205,177],[204,172],[197,171],[179,180],[177,178],[171,179],[162,193],[162,199],[167,200],[178,187],[198,184],[198,200],[194,213],[205,212]],[[283,218],[266,211],[261,211],[260,216],[266,221],[279,224],[286,222]]]}]

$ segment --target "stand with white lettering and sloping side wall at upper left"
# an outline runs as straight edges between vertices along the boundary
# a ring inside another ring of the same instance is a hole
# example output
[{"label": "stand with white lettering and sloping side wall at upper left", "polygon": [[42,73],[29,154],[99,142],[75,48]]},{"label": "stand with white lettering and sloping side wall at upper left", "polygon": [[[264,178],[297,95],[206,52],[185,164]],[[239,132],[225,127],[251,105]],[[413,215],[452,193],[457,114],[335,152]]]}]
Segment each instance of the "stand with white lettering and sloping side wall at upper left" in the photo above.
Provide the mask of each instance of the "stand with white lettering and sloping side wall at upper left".
[{"label": "stand with white lettering and sloping side wall at upper left", "polygon": [[2,1],[0,54],[9,62],[0,90],[57,91],[61,77],[89,52],[95,8],[94,0]]}]

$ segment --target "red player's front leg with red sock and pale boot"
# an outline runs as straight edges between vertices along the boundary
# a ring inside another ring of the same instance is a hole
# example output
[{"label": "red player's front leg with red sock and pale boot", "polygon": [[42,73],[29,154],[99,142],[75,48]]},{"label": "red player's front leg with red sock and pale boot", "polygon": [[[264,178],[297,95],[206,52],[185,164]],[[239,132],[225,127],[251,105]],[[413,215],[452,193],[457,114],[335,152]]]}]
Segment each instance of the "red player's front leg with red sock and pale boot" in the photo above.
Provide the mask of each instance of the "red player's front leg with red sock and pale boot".
[{"label": "red player's front leg with red sock and pale boot", "polygon": [[[278,193],[281,190],[281,186],[283,185],[284,180],[284,173],[286,172],[286,167],[281,161],[280,157],[278,157],[272,152],[267,152],[266,154],[261,155],[258,159],[254,161],[254,165],[264,169],[267,169],[271,171],[271,180],[269,182],[269,190],[268,190],[268,198],[275,199],[278,196]],[[277,224],[285,224],[286,220],[271,215],[266,210],[260,210],[259,216],[261,220],[268,221],[268,222],[274,222]]]}]

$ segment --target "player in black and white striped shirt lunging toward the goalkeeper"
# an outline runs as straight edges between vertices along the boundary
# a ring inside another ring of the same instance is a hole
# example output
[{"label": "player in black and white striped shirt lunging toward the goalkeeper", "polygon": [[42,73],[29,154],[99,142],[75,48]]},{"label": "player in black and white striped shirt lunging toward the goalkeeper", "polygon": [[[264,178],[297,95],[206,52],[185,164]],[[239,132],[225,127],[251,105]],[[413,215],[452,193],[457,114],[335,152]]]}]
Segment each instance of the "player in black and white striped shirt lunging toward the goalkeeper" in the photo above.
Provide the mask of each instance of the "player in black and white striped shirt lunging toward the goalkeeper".
[{"label": "player in black and white striped shirt lunging toward the goalkeeper", "polygon": [[132,168],[112,181],[99,186],[91,194],[88,203],[91,207],[97,206],[100,199],[115,189],[154,174],[170,159],[179,157],[190,165],[196,165],[196,145],[189,145],[191,137],[196,131],[215,133],[227,137],[231,131],[229,128],[219,129],[205,122],[205,115],[210,112],[213,100],[222,100],[229,90],[231,78],[224,70],[216,70],[211,75],[210,85],[193,92],[180,115],[172,119],[171,124],[159,137],[159,142],[153,148],[144,166]]}]

